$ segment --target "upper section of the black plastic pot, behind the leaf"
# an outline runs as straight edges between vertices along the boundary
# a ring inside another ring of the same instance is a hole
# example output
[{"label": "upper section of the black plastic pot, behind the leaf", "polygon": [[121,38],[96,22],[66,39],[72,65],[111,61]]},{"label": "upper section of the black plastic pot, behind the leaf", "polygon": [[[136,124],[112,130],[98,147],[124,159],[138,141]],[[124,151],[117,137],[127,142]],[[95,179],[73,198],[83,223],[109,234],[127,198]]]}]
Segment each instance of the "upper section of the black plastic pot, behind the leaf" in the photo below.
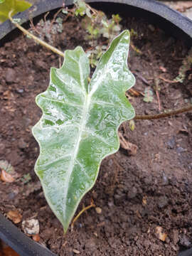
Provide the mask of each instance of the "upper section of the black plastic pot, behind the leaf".
[{"label": "upper section of the black plastic pot, behind the leaf", "polygon": [[[14,16],[20,18],[21,23],[28,21],[28,18],[34,18],[47,11],[57,9],[63,6],[63,0],[41,0],[38,4],[31,6],[30,9]],[[181,36],[186,39],[189,46],[192,46],[192,21],[183,16],[178,11],[156,2],[154,0],[87,0],[100,9],[109,9],[114,12],[123,12],[129,16],[146,17],[151,23],[155,23],[164,30],[173,35]],[[73,0],[66,0],[65,6],[73,4]],[[0,26],[0,40],[11,32],[15,26],[6,21]]]}]

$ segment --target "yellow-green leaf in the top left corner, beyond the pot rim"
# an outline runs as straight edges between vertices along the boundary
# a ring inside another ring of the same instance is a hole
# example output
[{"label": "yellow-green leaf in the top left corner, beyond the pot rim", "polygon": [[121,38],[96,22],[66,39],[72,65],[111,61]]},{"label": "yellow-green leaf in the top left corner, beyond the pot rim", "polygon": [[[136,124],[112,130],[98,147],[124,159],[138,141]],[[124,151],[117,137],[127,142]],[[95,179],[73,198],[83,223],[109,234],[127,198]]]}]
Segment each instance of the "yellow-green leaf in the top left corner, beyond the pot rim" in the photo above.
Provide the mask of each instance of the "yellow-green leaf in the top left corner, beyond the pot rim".
[{"label": "yellow-green leaf in the top left corner, beyond the pot rim", "polygon": [[31,4],[24,0],[0,0],[0,21],[4,22],[9,18],[8,14],[11,9],[14,9],[13,15],[15,15],[29,7],[31,7]]}]

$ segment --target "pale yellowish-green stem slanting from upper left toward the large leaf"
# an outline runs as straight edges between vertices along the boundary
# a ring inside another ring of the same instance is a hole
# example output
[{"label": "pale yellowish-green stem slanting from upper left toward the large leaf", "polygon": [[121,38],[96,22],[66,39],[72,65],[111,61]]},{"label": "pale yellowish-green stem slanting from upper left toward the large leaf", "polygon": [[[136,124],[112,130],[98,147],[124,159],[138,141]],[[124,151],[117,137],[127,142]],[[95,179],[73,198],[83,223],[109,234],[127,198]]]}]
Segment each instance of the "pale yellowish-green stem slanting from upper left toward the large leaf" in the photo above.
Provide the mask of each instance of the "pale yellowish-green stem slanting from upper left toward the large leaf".
[{"label": "pale yellowish-green stem slanting from upper left toward the large leaf", "polygon": [[33,38],[34,41],[36,41],[36,43],[41,44],[41,46],[45,46],[46,48],[48,48],[49,50],[52,50],[54,53],[57,53],[58,55],[64,57],[64,53],[60,50],[58,50],[57,48],[50,46],[48,43],[46,43],[45,41],[39,39],[38,37],[34,36],[32,33],[28,32],[25,28],[23,28],[22,26],[20,26],[16,21],[14,21],[14,19],[11,17],[11,14],[14,12],[14,9],[12,9],[11,11],[9,11],[9,19],[12,23],[14,23],[14,25],[21,30],[25,35],[29,36],[30,38]]}]

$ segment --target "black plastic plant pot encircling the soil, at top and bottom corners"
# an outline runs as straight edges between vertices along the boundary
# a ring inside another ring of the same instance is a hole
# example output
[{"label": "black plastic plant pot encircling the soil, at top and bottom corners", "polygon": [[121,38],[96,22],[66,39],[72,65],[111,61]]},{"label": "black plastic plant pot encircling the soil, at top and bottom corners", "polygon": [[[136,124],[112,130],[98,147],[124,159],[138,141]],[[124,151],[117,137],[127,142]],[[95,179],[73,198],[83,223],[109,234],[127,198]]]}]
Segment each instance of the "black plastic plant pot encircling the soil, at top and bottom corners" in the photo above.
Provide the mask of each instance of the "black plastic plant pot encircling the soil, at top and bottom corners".
[{"label": "black plastic plant pot encircling the soil, at top and bottom corners", "polygon": [[[63,0],[41,0],[31,6],[27,11],[17,14],[14,18],[20,18],[21,23],[28,21],[29,17],[35,18],[47,11],[63,6]],[[110,9],[113,13],[123,13],[127,16],[146,17],[148,21],[163,28],[166,33],[186,40],[188,46],[192,46],[192,21],[182,14],[154,0],[88,0],[95,8],[103,11]],[[73,0],[66,0],[65,6],[73,4]],[[6,21],[0,26],[0,46],[9,40],[9,32],[15,26]],[[0,238],[12,247],[21,256],[53,256],[53,252],[34,242],[21,233],[15,225],[0,213]],[[181,252],[179,256],[192,256],[192,249]]]}]

